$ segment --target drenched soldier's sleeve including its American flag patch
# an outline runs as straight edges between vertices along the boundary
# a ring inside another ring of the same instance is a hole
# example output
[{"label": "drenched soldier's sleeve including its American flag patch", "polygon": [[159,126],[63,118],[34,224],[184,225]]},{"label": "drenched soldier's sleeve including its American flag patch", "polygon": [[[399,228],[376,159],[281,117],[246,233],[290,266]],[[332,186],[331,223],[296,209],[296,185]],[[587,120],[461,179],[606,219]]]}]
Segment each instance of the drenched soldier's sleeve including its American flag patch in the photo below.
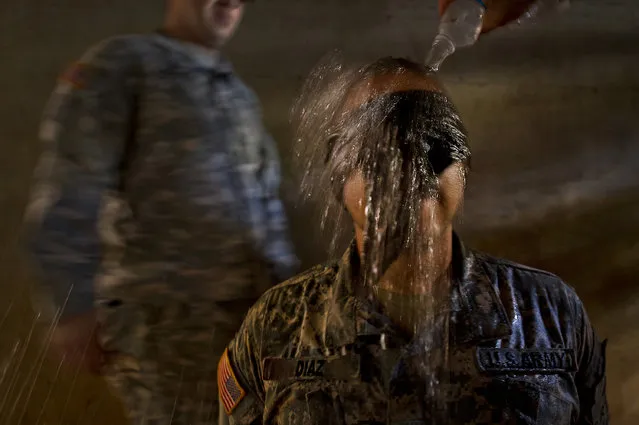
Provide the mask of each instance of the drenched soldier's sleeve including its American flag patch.
[{"label": "drenched soldier's sleeve including its American flag patch", "polygon": [[264,413],[262,380],[263,299],[249,310],[218,365],[220,424],[259,425]]}]

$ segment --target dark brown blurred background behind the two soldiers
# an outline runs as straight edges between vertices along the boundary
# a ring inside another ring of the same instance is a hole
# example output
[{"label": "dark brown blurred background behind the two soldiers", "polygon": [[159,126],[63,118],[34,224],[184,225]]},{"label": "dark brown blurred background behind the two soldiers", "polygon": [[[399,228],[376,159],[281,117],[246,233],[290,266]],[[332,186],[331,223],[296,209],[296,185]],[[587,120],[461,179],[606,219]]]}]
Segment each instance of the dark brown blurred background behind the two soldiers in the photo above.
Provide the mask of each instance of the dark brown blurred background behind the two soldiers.
[{"label": "dark brown blurred background behind the two soldiers", "polygon": [[[0,425],[119,424],[104,385],[44,359],[18,246],[37,125],[57,74],[90,44],[155,28],[160,1],[0,3]],[[434,0],[264,0],[228,54],[280,142],[286,200],[304,263],[327,256],[295,196],[288,110],[326,52],[423,56]],[[486,37],[442,76],[467,122],[474,170],[460,228],[468,242],[559,273],[610,339],[615,424],[639,420],[639,2],[582,0],[542,25]],[[302,226],[304,232],[302,232]]]}]

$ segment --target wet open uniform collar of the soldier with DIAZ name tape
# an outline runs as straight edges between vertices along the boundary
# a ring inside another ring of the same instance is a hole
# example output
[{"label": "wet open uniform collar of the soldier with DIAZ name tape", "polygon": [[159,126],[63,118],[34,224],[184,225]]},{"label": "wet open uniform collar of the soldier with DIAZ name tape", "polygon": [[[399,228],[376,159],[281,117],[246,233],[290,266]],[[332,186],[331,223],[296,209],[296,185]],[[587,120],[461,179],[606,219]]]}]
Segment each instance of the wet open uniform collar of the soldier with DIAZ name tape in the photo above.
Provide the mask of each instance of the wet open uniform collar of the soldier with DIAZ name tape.
[{"label": "wet open uniform collar of the soldier with DIAZ name tape", "polygon": [[[366,335],[386,333],[392,324],[358,294],[360,260],[355,242],[342,257],[327,315],[327,346],[348,346]],[[481,257],[467,250],[453,233],[451,337],[455,344],[507,337],[511,325],[503,303],[485,271]],[[338,331],[339,330],[339,331]]]}]

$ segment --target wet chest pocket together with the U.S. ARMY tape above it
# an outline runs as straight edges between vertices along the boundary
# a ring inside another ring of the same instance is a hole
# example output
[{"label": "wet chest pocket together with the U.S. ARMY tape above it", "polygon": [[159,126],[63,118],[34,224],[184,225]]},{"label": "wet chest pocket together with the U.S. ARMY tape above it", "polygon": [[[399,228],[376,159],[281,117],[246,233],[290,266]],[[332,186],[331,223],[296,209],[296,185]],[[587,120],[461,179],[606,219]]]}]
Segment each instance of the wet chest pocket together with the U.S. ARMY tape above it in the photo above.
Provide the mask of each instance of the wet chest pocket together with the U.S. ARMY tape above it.
[{"label": "wet chest pocket together with the U.S. ARMY tape above it", "polygon": [[[482,349],[472,391],[454,407],[460,423],[570,425],[578,401],[572,350]],[[466,412],[474,412],[467,417]]]}]

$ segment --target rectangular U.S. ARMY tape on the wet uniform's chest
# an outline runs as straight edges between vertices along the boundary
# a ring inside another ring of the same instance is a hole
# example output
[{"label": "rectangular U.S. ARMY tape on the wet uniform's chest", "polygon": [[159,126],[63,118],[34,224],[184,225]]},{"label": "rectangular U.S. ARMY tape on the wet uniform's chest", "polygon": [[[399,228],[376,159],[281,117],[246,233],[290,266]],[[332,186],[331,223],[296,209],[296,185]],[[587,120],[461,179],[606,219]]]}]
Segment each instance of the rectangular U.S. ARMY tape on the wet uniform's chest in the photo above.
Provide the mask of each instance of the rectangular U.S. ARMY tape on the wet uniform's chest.
[{"label": "rectangular U.S. ARMY tape on the wet uniform's chest", "polygon": [[575,351],[563,348],[477,348],[477,366],[482,372],[558,373],[575,372]]}]

